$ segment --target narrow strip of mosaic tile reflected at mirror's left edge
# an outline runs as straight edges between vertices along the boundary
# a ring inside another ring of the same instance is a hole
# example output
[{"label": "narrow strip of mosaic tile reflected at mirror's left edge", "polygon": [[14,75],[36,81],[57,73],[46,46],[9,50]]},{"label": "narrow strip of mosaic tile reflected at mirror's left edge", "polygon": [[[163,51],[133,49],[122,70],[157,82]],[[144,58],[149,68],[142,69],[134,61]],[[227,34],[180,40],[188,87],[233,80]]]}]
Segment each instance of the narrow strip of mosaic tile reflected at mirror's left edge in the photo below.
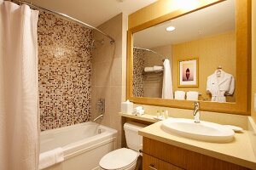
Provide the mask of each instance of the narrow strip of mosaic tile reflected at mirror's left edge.
[{"label": "narrow strip of mosaic tile reflected at mirror's left edge", "polygon": [[133,83],[134,97],[143,97],[143,71],[145,67],[145,52],[143,49],[133,48]]}]

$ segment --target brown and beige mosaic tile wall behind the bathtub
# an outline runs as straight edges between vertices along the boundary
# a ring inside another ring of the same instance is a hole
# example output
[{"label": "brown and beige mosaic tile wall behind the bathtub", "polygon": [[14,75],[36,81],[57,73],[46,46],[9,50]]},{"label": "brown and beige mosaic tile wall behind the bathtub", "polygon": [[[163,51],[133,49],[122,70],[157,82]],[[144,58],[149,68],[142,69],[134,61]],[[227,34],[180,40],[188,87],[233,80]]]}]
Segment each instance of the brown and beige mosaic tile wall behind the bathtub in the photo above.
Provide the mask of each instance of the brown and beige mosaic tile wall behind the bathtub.
[{"label": "brown and beige mosaic tile wall behind the bathtub", "polygon": [[41,131],[90,121],[92,31],[40,11],[38,73]]}]

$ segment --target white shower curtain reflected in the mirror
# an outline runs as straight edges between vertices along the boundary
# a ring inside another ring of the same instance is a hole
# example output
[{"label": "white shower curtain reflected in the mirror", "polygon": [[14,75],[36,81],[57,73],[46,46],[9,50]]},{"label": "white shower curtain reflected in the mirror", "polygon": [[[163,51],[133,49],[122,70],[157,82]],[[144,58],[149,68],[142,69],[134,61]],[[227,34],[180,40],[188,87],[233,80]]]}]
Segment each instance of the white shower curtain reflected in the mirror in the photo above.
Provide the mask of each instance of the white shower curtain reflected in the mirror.
[{"label": "white shower curtain reflected in the mirror", "polygon": [[172,72],[171,72],[170,60],[165,59],[164,61],[164,77],[163,77],[163,88],[162,88],[162,99],[173,99],[172,92]]}]

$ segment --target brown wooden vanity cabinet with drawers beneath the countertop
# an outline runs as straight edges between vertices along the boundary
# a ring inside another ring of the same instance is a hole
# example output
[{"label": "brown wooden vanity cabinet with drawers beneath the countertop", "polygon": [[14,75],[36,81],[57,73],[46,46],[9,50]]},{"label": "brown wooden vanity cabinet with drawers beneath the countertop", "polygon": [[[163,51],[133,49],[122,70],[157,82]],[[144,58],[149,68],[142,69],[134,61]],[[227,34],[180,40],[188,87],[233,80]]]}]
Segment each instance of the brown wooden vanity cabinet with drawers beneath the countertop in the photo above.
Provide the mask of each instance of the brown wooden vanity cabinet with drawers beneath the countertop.
[{"label": "brown wooden vanity cabinet with drawers beneath the countertop", "polygon": [[143,137],[143,170],[248,170],[247,167]]}]

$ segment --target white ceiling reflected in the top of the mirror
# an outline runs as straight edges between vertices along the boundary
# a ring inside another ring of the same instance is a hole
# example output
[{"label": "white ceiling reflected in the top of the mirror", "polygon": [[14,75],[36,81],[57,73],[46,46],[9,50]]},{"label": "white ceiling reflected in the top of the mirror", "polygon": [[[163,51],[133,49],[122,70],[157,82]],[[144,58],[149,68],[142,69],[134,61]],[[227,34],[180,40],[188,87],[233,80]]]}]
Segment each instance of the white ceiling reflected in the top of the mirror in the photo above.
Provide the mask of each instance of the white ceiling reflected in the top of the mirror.
[{"label": "white ceiling reflected in the top of the mirror", "polygon": [[[176,30],[166,31],[167,26],[175,26]],[[235,0],[227,0],[139,31],[134,34],[134,45],[141,48],[155,48],[188,42],[235,29]]]}]

